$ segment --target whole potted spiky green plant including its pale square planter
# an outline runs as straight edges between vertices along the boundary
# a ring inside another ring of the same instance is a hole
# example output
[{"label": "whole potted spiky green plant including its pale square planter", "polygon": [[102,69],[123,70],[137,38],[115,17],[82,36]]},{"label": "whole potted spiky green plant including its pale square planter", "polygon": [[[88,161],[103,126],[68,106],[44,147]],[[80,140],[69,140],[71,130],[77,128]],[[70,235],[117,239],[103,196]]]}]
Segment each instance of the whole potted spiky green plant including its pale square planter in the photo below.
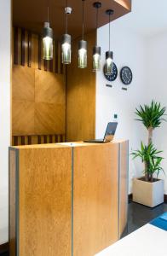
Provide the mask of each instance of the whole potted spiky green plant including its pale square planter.
[{"label": "whole potted spiky green plant including its pale square planter", "polygon": [[[148,143],[141,143],[141,148],[135,150],[132,155],[141,158],[144,164],[144,177],[133,179],[133,201],[155,207],[164,202],[164,181],[158,179],[159,172],[164,172],[161,163],[163,157],[153,146],[153,130],[159,127],[164,121],[166,108],[162,108],[158,102],[151,102],[151,105],[144,105],[139,109],[136,108],[136,115],[148,131]],[[156,175],[156,177],[155,177]]]}]

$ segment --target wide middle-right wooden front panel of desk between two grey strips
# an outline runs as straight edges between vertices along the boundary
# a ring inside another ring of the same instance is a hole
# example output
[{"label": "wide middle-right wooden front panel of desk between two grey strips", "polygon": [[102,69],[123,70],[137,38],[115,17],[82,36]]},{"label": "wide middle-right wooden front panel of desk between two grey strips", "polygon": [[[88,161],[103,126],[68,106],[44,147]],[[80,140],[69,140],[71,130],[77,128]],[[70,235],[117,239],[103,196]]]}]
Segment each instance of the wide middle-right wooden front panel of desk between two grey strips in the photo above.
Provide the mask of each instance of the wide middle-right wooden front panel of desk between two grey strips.
[{"label": "wide middle-right wooden front panel of desk between two grey strips", "polygon": [[74,148],[74,256],[118,240],[118,143]]}]

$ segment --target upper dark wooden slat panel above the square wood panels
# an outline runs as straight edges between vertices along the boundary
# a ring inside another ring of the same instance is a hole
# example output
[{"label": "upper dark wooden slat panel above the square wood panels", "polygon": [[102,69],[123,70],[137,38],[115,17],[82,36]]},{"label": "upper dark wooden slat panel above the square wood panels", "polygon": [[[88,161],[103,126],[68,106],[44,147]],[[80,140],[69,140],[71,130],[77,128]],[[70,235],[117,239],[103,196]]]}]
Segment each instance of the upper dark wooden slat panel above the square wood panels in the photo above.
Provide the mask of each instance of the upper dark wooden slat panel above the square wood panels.
[{"label": "upper dark wooden slat panel above the square wood panels", "polygon": [[41,35],[14,27],[14,64],[32,67],[53,73],[63,73],[60,60],[60,43],[54,41],[54,57],[51,61],[43,60],[43,40]]}]

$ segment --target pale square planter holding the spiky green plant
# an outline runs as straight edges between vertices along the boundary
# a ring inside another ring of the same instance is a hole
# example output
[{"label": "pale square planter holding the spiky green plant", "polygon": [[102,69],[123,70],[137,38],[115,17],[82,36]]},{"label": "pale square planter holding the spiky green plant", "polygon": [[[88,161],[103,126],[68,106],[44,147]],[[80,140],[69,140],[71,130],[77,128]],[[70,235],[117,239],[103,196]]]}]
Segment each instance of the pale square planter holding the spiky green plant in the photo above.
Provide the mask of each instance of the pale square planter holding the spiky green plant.
[{"label": "pale square planter holding the spiky green plant", "polygon": [[153,183],[139,178],[133,179],[133,201],[147,207],[156,207],[164,202],[164,180]]}]

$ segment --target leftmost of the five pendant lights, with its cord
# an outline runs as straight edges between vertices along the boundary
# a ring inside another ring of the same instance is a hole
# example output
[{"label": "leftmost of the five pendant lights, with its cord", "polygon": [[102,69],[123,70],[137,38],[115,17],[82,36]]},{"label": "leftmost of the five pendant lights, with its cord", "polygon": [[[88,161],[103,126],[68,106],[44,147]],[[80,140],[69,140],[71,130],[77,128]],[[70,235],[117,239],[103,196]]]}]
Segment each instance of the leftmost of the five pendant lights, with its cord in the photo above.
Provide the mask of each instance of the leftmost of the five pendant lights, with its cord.
[{"label": "leftmost of the five pendant lights, with its cord", "polygon": [[49,7],[48,7],[48,21],[44,22],[43,27],[43,59],[53,59],[53,30],[49,26]]}]

